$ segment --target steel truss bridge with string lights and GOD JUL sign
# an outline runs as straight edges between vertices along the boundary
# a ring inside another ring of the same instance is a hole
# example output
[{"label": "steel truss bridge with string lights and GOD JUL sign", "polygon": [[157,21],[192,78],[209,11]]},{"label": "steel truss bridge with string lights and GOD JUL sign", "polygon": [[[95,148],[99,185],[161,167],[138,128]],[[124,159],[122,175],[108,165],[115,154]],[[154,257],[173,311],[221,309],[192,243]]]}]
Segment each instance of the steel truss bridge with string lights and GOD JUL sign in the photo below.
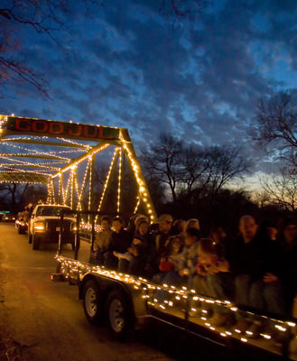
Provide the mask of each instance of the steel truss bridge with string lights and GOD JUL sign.
[{"label": "steel truss bridge with string lights and GOD JUL sign", "polygon": [[[153,202],[125,128],[0,116],[0,146],[2,183],[46,184],[49,204],[97,211],[108,205],[114,214],[123,211],[128,183],[132,185],[127,196],[130,214],[141,210],[155,220]],[[109,168],[100,174],[105,182],[97,194],[94,170],[100,157],[104,164],[109,162]]]}]

